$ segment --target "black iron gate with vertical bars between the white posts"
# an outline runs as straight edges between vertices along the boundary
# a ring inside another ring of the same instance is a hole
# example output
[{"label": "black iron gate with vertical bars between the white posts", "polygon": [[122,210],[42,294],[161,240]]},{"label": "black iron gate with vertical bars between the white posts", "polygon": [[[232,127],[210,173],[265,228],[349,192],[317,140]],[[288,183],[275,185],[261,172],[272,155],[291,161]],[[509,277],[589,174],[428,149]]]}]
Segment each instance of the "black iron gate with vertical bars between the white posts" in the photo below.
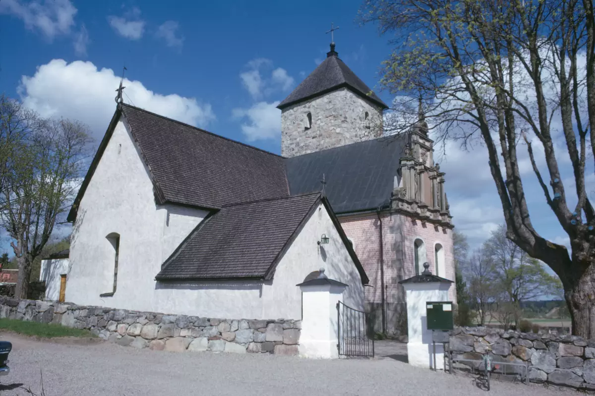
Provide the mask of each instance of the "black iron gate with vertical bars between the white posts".
[{"label": "black iron gate with vertical bars between the white posts", "polygon": [[374,340],[368,337],[368,315],[341,301],[337,303],[339,356],[374,357]]}]

